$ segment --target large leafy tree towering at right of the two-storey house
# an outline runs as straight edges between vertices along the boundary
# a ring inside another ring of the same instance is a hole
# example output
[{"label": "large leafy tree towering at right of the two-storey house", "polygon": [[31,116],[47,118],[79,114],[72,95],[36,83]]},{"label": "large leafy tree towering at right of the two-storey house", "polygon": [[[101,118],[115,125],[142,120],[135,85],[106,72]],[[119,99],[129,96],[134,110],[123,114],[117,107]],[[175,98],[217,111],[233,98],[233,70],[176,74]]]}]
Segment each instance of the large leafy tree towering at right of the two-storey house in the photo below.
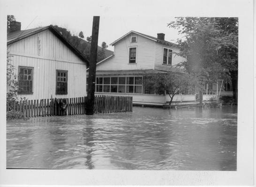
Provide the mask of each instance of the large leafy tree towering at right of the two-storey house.
[{"label": "large leafy tree towering at right of the two-storey house", "polygon": [[[185,40],[178,43],[181,47],[179,55],[187,60],[180,65],[188,72],[196,73],[201,84],[216,82],[220,78],[237,80],[237,18],[177,17],[168,26],[185,35]],[[237,84],[232,82],[237,90]],[[233,96],[237,100],[237,91]]]}]

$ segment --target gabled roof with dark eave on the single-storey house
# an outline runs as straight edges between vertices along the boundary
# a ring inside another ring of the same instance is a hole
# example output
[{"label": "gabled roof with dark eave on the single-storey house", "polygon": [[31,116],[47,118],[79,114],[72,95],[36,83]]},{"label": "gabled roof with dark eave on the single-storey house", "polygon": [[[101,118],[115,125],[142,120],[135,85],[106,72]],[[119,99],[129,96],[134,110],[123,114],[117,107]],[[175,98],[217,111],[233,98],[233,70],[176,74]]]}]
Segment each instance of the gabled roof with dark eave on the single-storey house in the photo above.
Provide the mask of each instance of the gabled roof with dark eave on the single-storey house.
[{"label": "gabled roof with dark eave on the single-storey house", "polygon": [[72,50],[83,62],[85,62],[89,66],[89,60],[83,56],[83,54],[77,50],[71,43],[68,42],[61,34],[60,32],[55,29],[52,25],[46,26],[46,27],[38,27],[35,29],[28,29],[28,30],[20,30],[15,31],[7,34],[7,45],[10,45],[12,43],[18,42],[24,38],[27,38],[29,36],[35,35],[39,32],[42,32],[44,30],[49,29],[56,37],[60,39],[61,42],[63,42],[70,50]]}]

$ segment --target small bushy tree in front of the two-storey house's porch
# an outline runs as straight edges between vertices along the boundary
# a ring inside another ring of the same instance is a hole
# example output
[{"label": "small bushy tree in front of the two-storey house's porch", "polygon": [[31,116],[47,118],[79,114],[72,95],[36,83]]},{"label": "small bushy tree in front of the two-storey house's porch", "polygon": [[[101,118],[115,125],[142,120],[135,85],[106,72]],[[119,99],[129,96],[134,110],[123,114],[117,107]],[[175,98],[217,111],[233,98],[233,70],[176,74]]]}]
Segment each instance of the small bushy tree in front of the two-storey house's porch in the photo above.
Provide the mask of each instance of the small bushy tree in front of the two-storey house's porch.
[{"label": "small bushy tree in front of the two-storey house's porch", "polygon": [[177,74],[175,72],[149,74],[143,77],[145,89],[153,89],[159,95],[170,96],[169,105],[176,94],[194,92],[198,82],[193,74]]}]

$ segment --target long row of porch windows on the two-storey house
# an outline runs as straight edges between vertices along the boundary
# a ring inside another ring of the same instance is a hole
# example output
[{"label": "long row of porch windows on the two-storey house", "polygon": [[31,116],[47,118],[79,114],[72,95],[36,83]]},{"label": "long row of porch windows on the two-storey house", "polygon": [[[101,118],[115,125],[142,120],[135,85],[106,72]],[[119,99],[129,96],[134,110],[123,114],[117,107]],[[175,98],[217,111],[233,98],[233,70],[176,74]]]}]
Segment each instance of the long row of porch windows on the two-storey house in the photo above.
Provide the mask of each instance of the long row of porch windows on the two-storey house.
[{"label": "long row of porch windows on the two-storey house", "polygon": [[142,94],[142,77],[97,77],[96,92]]}]

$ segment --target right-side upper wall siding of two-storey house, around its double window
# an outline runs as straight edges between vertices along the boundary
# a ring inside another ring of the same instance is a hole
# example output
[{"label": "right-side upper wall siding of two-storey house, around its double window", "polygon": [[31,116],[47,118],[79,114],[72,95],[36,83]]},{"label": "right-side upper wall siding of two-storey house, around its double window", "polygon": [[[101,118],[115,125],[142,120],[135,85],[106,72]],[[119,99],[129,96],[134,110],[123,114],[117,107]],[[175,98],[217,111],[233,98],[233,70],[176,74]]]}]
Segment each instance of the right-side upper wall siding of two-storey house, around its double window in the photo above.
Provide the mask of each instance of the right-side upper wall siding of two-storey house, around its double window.
[{"label": "right-side upper wall siding of two-storey house, around its double window", "polygon": [[[172,65],[164,65],[163,64],[164,47],[167,48],[167,49],[173,50]],[[179,50],[176,49],[176,48],[167,47],[167,46],[164,46],[162,44],[156,43],[155,69],[166,71],[168,69],[171,69],[172,67],[175,67],[175,65],[185,61],[186,58],[183,58],[183,57],[178,56],[177,54],[175,54],[175,53],[178,53],[178,52],[179,52]]]}]

